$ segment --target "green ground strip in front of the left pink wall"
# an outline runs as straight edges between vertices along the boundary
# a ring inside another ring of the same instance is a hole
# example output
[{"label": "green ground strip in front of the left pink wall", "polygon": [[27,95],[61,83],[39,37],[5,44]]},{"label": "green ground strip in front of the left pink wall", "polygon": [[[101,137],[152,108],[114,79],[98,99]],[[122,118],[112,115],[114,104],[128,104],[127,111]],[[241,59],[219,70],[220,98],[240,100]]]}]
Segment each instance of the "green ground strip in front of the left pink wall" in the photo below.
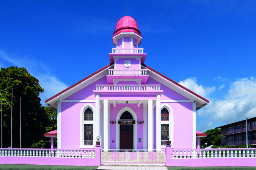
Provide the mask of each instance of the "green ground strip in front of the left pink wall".
[{"label": "green ground strip in front of the left pink wall", "polygon": [[14,165],[0,164],[0,170],[92,170],[98,166],[58,166],[58,165]]}]

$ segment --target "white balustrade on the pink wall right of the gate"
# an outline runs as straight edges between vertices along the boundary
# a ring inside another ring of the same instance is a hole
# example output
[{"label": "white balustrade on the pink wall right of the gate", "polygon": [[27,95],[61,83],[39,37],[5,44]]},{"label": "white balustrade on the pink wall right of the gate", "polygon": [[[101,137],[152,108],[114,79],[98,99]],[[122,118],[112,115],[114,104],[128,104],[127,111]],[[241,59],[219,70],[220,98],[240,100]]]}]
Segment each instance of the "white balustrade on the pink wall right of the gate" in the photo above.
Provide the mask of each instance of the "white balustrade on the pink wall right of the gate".
[{"label": "white balustrade on the pink wall right of the gate", "polygon": [[220,149],[173,149],[172,158],[256,158],[255,148],[220,148]]}]

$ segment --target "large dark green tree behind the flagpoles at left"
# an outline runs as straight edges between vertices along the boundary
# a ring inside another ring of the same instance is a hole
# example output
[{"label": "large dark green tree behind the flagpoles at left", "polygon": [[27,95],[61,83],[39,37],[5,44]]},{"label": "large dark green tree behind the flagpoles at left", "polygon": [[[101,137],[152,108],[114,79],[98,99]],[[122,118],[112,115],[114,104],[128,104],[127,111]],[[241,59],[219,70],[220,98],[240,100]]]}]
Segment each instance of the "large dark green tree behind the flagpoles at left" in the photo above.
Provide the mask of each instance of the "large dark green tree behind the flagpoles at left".
[{"label": "large dark green tree behind the flagpoles at left", "polygon": [[[20,97],[22,148],[36,147],[47,141],[44,133],[57,129],[57,117],[47,107],[41,107],[40,93],[44,89],[38,79],[25,68],[10,66],[0,70],[0,99],[3,99],[3,147],[11,146],[11,88],[13,88],[13,148],[20,147]],[[41,147],[41,146],[40,146]]]}]

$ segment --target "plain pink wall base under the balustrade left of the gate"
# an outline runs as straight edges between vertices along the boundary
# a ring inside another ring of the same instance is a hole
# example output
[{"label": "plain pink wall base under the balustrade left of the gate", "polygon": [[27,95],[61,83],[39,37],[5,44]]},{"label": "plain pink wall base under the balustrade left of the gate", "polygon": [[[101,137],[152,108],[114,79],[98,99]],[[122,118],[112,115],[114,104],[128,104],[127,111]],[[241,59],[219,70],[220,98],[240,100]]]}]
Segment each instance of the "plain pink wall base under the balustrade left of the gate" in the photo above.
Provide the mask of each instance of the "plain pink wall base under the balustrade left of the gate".
[{"label": "plain pink wall base under the balustrade left of the gate", "polygon": [[3,156],[0,164],[100,166],[101,158],[40,158]]}]

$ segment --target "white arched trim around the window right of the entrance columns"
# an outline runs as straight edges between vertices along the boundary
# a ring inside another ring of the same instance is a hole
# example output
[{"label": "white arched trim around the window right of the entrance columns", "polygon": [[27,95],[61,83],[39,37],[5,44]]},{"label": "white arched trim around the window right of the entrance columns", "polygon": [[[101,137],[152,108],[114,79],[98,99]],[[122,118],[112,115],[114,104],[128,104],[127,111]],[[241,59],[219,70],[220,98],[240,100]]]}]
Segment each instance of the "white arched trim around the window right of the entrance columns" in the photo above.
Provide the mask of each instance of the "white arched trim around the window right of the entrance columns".
[{"label": "white arched trim around the window right of the entrance columns", "polygon": [[[169,122],[169,135],[171,136],[171,138],[169,140],[171,141],[171,144],[172,144],[171,148],[174,148],[174,141],[173,141],[173,133],[174,133],[173,109],[171,108],[170,105],[165,104],[165,103],[161,105],[161,111],[162,111],[163,108],[166,108],[169,112],[169,121],[168,121]],[[161,121],[161,123],[162,122],[163,121]],[[161,146],[161,147],[163,147],[163,146]]]}]

